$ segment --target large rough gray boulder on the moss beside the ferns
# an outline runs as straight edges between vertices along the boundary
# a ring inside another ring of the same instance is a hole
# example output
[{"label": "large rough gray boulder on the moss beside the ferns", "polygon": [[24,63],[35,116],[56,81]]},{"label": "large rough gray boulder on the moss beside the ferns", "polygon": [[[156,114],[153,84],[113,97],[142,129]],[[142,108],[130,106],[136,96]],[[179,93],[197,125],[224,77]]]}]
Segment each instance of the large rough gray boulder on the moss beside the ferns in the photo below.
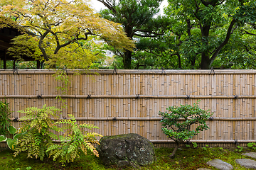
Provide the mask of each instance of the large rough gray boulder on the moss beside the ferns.
[{"label": "large rough gray boulder on the moss beside the ferns", "polygon": [[152,142],[134,133],[102,137],[97,151],[105,165],[144,166],[156,159]]}]

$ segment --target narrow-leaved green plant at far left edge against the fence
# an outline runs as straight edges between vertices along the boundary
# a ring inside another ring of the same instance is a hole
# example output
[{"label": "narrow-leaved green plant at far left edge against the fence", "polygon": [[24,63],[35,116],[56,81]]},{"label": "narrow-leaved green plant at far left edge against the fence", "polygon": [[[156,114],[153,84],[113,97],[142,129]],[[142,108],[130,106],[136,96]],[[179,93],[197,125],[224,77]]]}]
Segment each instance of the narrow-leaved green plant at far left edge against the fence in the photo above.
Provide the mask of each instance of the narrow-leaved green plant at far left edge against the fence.
[{"label": "narrow-leaved green plant at far left edge against the fence", "polygon": [[0,135],[9,134],[11,126],[9,115],[11,115],[9,103],[4,99],[4,101],[0,101]]}]

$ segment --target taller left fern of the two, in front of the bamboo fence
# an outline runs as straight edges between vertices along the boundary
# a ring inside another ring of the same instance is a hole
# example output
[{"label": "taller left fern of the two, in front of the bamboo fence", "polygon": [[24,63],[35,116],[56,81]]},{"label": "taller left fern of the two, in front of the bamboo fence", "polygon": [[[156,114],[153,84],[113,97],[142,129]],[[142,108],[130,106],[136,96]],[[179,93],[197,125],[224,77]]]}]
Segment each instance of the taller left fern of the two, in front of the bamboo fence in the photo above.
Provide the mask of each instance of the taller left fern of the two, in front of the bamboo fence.
[{"label": "taller left fern of the two, in front of the bamboo fence", "polygon": [[48,156],[46,150],[53,145],[53,140],[57,136],[53,133],[53,130],[60,131],[54,121],[50,119],[58,118],[61,111],[53,106],[43,108],[26,108],[19,113],[26,113],[26,116],[20,120],[23,121],[18,133],[21,136],[18,138],[14,157],[20,152],[28,152],[28,157],[36,158],[43,161],[44,157]]}]

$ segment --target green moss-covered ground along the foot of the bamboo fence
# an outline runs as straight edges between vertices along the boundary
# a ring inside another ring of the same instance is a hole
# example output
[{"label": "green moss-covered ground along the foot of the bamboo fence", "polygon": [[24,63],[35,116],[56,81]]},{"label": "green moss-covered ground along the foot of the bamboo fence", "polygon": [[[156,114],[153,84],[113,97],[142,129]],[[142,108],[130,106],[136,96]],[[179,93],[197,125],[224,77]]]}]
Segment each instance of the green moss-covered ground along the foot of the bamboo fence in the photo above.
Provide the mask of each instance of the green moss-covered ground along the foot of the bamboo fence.
[{"label": "green moss-covered ground along the foot of the bamboo fence", "polygon": [[[235,162],[235,159],[249,158],[242,156],[242,152],[255,152],[252,149],[223,149],[215,148],[181,148],[178,149],[174,159],[169,158],[169,154],[173,151],[172,148],[156,149],[157,160],[154,164],[149,166],[142,166],[141,169],[199,169],[208,168],[215,169],[208,166],[206,162],[211,159],[221,159],[234,166],[234,169],[245,169]],[[252,159],[252,158],[250,158]],[[254,159],[256,161],[256,159]],[[1,169],[40,169],[40,170],[59,170],[59,169],[134,169],[132,167],[120,168],[116,166],[104,166],[100,159],[92,154],[80,155],[75,162],[62,166],[58,162],[53,162],[51,159],[42,161],[38,159],[31,159],[26,157],[26,153],[19,154],[18,157],[13,157],[13,153],[9,149],[0,151],[0,170]]]}]

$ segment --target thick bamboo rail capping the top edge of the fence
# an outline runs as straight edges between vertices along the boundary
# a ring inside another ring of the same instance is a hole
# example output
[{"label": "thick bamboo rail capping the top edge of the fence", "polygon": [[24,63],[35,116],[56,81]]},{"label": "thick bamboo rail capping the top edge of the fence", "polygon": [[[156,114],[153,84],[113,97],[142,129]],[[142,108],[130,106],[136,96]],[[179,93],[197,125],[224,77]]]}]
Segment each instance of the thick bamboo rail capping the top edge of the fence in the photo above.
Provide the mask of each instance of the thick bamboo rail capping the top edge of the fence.
[{"label": "thick bamboo rail capping the top edge of the fence", "polygon": [[[0,74],[55,74],[63,69],[0,69]],[[67,69],[68,74],[256,74],[255,69]]]}]

